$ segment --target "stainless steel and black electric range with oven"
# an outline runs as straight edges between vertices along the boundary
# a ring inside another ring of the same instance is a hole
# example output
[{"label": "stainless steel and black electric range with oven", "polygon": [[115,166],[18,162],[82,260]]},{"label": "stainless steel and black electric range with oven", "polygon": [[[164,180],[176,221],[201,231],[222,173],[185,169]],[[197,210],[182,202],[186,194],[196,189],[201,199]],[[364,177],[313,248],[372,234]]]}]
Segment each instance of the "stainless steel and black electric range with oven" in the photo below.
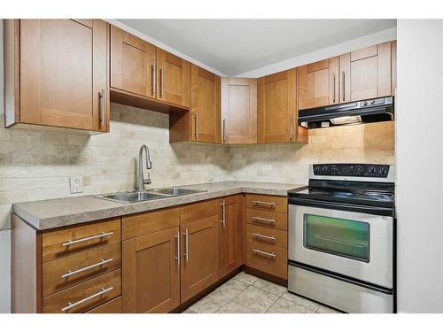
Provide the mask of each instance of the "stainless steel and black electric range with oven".
[{"label": "stainless steel and black electric range with oven", "polygon": [[289,201],[288,290],[347,313],[394,313],[394,166],[317,164]]}]

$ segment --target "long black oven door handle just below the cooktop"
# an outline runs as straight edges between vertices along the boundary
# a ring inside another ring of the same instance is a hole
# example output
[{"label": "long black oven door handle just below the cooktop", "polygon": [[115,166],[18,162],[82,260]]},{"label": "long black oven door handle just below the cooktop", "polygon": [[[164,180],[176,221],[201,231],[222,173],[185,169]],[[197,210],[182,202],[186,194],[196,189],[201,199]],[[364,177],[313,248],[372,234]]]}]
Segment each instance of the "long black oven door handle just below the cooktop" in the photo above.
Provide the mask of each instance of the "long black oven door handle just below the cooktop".
[{"label": "long black oven door handle just below the cooktop", "polygon": [[393,216],[393,209],[389,207],[369,206],[369,205],[350,205],[337,202],[325,202],[315,199],[302,198],[302,197],[290,197],[288,199],[290,205],[301,205],[309,207],[318,207],[323,209],[358,212],[366,214],[382,215],[387,217]]}]

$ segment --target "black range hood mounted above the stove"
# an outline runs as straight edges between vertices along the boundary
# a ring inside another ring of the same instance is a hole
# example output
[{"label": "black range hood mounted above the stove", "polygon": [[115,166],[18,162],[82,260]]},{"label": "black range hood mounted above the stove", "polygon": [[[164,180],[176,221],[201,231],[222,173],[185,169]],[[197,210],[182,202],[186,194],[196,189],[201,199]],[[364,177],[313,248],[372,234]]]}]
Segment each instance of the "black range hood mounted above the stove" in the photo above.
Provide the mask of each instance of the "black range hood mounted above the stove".
[{"label": "black range hood mounted above the stove", "polygon": [[334,127],[393,119],[393,97],[299,110],[299,125],[307,128]]}]

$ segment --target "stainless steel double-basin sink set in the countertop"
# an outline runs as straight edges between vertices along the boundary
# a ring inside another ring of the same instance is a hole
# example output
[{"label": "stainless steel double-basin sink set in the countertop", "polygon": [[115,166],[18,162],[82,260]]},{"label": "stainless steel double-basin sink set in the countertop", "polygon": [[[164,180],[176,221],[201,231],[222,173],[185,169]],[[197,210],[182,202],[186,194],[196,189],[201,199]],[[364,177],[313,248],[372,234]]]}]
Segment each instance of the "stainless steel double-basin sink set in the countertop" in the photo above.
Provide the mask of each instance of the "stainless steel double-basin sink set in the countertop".
[{"label": "stainless steel double-basin sink set in the countertop", "polygon": [[172,187],[172,188],[152,189],[144,191],[118,192],[108,195],[98,195],[96,197],[119,203],[137,203],[137,202],[150,201],[152,199],[196,194],[198,192],[205,192],[205,191],[206,190]]}]

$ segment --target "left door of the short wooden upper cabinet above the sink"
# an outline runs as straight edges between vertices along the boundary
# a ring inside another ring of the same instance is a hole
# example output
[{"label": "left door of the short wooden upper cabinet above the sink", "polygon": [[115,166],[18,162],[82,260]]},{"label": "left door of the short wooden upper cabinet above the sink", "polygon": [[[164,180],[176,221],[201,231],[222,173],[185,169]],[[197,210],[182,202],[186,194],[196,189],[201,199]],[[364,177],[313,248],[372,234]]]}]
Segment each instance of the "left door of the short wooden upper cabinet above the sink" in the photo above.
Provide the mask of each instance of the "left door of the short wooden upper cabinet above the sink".
[{"label": "left door of the short wooden upper cabinet above the sink", "polygon": [[111,87],[156,97],[156,47],[111,26]]}]

